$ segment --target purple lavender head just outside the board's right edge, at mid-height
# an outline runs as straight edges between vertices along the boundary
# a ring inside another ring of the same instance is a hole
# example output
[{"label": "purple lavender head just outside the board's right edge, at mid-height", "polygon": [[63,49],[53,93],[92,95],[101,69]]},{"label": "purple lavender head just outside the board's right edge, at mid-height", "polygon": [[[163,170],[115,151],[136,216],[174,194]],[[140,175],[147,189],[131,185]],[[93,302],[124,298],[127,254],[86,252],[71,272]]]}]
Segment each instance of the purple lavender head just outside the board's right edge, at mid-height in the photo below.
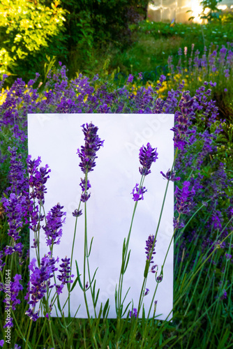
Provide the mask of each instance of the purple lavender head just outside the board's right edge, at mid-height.
[{"label": "purple lavender head just outside the board's right edge, at mid-height", "polygon": [[183,182],[183,188],[179,189],[178,186],[176,186],[176,190],[174,192],[175,198],[176,198],[176,210],[179,212],[179,214],[189,214],[190,212],[190,205],[193,202],[193,197],[195,195],[195,190],[192,188],[190,191],[188,187],[190,186],[189,181]]}]

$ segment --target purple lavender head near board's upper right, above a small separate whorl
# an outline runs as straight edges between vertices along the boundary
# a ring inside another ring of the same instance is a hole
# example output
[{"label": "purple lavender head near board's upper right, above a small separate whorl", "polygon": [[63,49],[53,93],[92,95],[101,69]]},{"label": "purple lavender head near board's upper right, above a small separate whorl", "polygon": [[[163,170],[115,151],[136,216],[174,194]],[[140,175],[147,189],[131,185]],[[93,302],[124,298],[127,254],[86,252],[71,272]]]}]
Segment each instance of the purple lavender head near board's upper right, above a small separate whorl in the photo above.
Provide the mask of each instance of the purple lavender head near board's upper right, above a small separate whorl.
[{"label": "purple lavender head near board's upper right, above a small separate whorl", "polygon": [[147,143],[146,147],[144,145],[140,148],[139,160],[142,168],[139,168],[140,174],[146,176],[151,173],[151,165],[156,162],[158,158],[157,148],[152,148],[151,144]]}]

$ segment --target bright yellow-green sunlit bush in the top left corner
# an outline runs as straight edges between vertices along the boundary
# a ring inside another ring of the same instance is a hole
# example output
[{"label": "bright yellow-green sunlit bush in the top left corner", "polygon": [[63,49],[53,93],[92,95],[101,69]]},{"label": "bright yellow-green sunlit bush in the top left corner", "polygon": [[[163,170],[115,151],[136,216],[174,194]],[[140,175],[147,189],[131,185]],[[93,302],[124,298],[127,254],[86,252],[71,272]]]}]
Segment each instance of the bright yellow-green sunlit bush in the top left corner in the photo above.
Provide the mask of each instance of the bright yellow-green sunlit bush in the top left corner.
[{"label": "bright yellow-green sunlit bush in the top left corner", "polygon": [[0,3],[0,75],[15,74],[20,62],[35,56],[48,39],[63,28],[66,11],[59,1],[50,3],[26,0],[2,0]]}]

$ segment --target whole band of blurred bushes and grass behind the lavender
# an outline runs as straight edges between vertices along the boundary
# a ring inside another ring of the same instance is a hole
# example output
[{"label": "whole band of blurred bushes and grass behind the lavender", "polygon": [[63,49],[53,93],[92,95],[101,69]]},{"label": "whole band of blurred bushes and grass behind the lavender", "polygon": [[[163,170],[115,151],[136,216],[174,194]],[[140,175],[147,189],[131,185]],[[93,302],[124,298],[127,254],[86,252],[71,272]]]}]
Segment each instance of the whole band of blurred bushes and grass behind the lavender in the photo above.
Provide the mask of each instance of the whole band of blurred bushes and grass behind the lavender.
[{"label": "whole band of blurred bushes and grass behind the lavender", "polygon": [[[108,61],[107,73],[118,70],[150,73],[154,80],[167,73],[167,57],[179,59],[179,47],[200,54],[209,47],[232,41],[232,13],[216,6],[219,0],[202,1],[208,7],[206,24],[149,22],[149,0],[2,0],[0,3],[0,75],[27,81],[61,61],[68,77],[93,76]],[[191,17],[192,13],[190,13]],[[152,72],[152,73],[151,73]]]}]

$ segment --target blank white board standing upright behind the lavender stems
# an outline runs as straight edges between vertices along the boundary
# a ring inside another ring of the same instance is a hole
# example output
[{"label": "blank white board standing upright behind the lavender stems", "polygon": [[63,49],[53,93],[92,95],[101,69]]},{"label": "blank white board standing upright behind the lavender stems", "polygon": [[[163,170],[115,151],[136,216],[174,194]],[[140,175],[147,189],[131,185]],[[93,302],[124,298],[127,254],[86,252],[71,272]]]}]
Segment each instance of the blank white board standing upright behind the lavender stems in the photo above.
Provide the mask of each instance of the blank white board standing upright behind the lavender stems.
[{"label": "blank white board standing upright behind the lavender stems", "polygon": [[[28,139],[29,154],[32,159],[41,157],[42,164],[50,166],[45,195],[45,211],[48,212],[59,202],[66,210],[66,223],[63,225],[61,243],[54,246],[53,255],[70,258],[75,218],[72,215],[80,202],[80,177],[84,174],[79,166],[80,158],[77,148],[84,145],[82,124],[93,122],[98,126],[98,135],[105,140],[104,147],[97,153],[96,167],[89,172],[91,198],[87,201],[88,241],[93,237],[93,246],[89,258],[91,273],[96,270],[97,288],[100,288],[99,302],[110,299],[109,318],[116,318],[114,292],[119,282],[121,268],[121,251],[124,237],[127,237],[135,202],[132,199],[133,187],[140,183],[139,151],[142,145],[150,142],[157,148],[158,160],[151,165],[151,173],[144,181],[147,192],[144,200],[138,202],[133,230],[130,237],[130,262],[123,280],[123,295],[130,287],[125,304],[133,299],[134,307],[140,297],[146,261],[145,246],[149,235],[155,235],[160,209],[167,181],[160,171],[167,172],[174,159],[173,132],[174,115],[172,114],[29,114]],[[84,208],[84,204],[82,206]],[[163,264],[167,247],[173,234],[174,188],[170,182],[167,199],[160,222],[156,242],[154,261],[158,270]],[[31,245],[33,233],[31,232]],[[84,249],[84,214],[78,218],[74,258],[82,274]],[[45,236],[40,237],[40,258],[47,253]],[[35,256],[31,248],[30,258]],[[75,261],[73,274],[76,276]],[[82,276],[81,276],[82,279]],[[58,282],[59,283],[59,282]],[[149,295],[144,297],[146,314],[149,310],[153,290],[156,288],[155,274],[149,273],[146,288]],[[63,288],[65,290],[66,288]],[[61,304],[67,293],[60,296]],[[87,292],[89,309],[93,315],[90,292]],[[167,256],[163,281],[158,285],[155,298],[156,315],[165,320],[173,307],[173,244]],[[80,305],[81,304],[81,305]],[[80,286],[71,294],[71,315],[87,318],[84,296]],[[65,316],[68,308],[65,308]],[[142,313],[140,313],[140,316]],[[153,312],[152,312],[153,315]],[[55,309],[52,316],[56,316]],[[170,314],[170,317],[172,314]]]}]

